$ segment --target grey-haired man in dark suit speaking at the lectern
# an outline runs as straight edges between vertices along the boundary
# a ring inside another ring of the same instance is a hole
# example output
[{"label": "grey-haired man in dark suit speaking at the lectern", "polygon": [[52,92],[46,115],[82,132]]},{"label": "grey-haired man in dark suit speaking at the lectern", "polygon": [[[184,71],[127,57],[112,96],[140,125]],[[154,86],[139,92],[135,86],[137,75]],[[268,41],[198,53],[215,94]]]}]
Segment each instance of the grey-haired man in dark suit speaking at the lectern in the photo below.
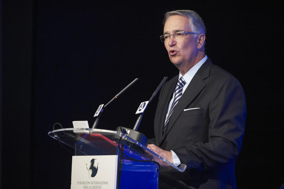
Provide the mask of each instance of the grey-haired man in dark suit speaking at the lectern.
[{"label": "grey-haired man in dark suit speaking at the lectern", "polygon": [[196,12],[167,12],[160,37],[180,72],[160,91],[148,148],[187,165],[185,172],[161,172],[160,186],[236,188],[235,159],[246,118],[241,84],[206,56],[205,26]]}]

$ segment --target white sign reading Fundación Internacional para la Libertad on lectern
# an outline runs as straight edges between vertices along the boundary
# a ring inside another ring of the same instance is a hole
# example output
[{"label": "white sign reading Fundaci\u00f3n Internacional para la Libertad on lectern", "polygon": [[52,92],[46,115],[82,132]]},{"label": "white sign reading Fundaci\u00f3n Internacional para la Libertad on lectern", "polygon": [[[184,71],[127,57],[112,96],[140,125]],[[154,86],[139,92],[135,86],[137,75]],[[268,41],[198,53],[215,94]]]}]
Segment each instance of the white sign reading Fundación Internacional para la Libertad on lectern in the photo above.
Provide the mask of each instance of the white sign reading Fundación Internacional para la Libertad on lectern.
[{"label": "white sign reading Fundaci\u00f3n Internacional para la Libertad on lectern", "polygon": [[115,189],[117,155],[72,156],[71,189]]}]

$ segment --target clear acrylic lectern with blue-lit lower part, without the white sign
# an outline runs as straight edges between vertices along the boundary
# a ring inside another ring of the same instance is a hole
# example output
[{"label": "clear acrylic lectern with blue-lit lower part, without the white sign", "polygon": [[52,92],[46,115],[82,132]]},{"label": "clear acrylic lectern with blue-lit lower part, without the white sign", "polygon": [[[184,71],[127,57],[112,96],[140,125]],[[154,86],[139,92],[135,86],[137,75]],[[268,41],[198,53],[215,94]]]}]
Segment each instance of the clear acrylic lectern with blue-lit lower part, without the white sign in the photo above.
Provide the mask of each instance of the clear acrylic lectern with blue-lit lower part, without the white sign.
[{"label": "clear acrylic lectern with blue-lit lower part, without the white sign", "polygon": [[[175,166],[163,157],[118,131],[67,128],[48,133],[75,149],[75,155],[118,155],[117,188],[158,188],[159,171],[183,172],[185,164]],[[159,164],[159,166],[158,166]]]}]

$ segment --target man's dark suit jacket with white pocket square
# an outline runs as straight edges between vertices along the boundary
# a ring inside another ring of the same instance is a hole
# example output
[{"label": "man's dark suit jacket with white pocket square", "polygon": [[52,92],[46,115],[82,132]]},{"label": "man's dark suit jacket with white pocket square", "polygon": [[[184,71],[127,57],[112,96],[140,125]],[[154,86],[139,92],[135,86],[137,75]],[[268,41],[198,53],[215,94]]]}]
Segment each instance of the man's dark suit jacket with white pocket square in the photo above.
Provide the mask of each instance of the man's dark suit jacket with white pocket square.
[{"label": "man's dark suit jacket with white pocket square", "polygon": [[193,188],[236,188],[235,159],[246,118],[241,84],[208,58],[175,106],[163,134],[177,81],[178,75],[163,85],[154,119],[155,145],[173,150],[187,165],[185,172],[169,174]]}]

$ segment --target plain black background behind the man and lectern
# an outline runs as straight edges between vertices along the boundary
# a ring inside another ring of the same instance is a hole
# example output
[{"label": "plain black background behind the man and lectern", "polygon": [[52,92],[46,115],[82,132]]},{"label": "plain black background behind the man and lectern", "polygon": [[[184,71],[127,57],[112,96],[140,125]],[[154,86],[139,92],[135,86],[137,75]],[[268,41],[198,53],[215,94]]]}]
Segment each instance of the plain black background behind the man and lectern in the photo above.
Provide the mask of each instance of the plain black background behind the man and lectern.
[{"label": "plain black background behind the man and lectern", "polygon": [[[238,188],[279,188],[283,165],[283,15],[280,1],[3,1],[2,186],[70,188],[72,154],[47,133],[55,122],[132,128],[139,104],[178,74],[159,35],[167,11],[191,9],[206,25],[206,54],[242,84],[247,101]],[[139,131],[152,138],[158,96]]]}]

